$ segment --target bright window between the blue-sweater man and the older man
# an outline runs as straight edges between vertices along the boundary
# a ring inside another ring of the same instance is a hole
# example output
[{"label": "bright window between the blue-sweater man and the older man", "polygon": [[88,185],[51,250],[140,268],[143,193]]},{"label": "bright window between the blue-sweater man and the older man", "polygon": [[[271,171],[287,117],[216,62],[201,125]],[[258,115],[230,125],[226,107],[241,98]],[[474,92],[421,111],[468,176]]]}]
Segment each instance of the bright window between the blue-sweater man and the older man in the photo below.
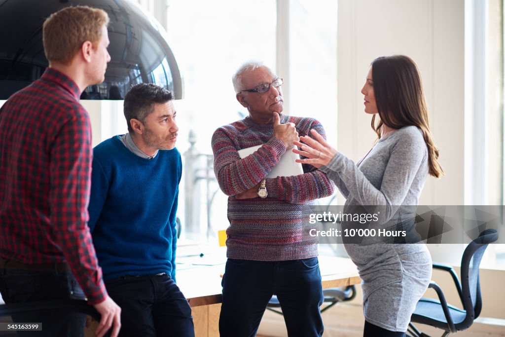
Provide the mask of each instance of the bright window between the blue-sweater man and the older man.
[{"label": "bright window between the blue-sweater man and the older man", "polygon": [[[185,96],[175,103],[181,129],[177,148],[186,152],[178,215],[187,238],[217,240],[217,230],[228,227],[227,197],[214,178],[211,137],[247,114],[231,82],[238,67],[258,60],[275,70],[276,2],[170,0],[168,5],[168,40],[184,76]],[[189,132],[194,148],[186,141]]]}]

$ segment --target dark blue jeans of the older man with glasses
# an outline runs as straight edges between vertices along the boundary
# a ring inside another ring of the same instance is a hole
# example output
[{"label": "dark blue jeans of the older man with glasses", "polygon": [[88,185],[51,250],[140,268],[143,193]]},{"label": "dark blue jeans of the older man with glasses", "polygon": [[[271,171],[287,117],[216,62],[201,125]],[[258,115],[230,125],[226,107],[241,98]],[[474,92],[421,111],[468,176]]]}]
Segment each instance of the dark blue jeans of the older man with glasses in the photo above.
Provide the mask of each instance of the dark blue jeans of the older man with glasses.
[{"label": "dark blue jeans of the older man with glasses", "polygon": [[290,337],[323,334],[323,304],[317,258],[265,262],[228,259],[222,280],[221,337],[256,335],[272,295],[281,304]]}]

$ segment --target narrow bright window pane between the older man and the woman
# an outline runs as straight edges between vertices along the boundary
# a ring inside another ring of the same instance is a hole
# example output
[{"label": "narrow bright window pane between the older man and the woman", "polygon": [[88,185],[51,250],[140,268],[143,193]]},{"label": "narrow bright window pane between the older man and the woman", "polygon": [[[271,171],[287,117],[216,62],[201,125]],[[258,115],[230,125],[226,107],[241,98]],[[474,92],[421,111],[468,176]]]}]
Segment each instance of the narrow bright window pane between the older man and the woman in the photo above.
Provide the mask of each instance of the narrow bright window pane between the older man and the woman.
[{"label": "narrow bright window pane between the older man and the woman", "polygon": [[290,3],[290,109],[319,120],[336,146],[337,2]]}]

